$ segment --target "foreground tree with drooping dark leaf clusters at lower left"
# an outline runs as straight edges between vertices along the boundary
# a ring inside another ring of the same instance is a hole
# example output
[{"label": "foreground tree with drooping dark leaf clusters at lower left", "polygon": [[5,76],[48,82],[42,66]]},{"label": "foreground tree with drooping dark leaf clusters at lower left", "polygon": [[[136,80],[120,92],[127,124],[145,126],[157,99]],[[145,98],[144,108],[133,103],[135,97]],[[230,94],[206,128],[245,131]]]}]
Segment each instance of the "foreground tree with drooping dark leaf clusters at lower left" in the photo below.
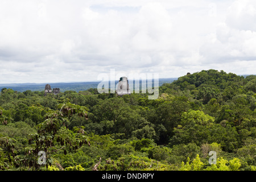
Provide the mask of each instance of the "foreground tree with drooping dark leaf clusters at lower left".
[{"label": "foreground tree with drooping dark leaf clusters at lower left", "polygon": [[25,148],[25,155],[19,156],[17,166],[40,170],[44,167],[37,160],[40,151],[46,153],[45,164],[48,167],[53,162],[53,153],[63,150],[64,154],[67,154],[67,151],[76,151],[83,144],[90,146],[82,127],[76,127],[73,131],[68,129],[69,118],[76,113],[79,117],[88,118],[88,109],[71,103],[59,104],[58,109],[60,110],[49,109],[46,120],[37,125],[37,133],[30,134],[29,146]]}]

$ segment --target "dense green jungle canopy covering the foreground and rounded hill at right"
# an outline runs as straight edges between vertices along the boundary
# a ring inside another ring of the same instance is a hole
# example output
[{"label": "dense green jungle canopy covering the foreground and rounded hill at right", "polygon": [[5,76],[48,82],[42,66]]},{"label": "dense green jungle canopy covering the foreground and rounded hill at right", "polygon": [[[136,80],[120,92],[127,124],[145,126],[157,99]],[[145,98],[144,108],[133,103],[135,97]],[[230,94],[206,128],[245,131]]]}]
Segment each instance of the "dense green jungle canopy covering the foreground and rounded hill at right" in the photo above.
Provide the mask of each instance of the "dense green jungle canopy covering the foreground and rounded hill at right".
[{"label": "dense green jungle canopy covering the foreground and rounded hill at right", "polygon": [[3,88],[0,169],[256,169],[256,76],[188,73],[159,86],[158,99],[147,96]]}]

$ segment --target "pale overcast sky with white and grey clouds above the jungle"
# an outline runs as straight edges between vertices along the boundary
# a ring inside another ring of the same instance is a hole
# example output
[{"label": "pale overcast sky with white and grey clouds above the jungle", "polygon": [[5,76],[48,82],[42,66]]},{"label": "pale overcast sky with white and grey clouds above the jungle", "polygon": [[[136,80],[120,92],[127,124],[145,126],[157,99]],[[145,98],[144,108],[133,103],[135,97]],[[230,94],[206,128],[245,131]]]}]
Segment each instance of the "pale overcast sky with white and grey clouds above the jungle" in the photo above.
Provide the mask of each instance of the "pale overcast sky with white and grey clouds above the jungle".
[{"label": "pale overcast sky with white and grey clouds above the jungle", "polygon": [[0,84],[255,74],[254,0],[1,0]]}]

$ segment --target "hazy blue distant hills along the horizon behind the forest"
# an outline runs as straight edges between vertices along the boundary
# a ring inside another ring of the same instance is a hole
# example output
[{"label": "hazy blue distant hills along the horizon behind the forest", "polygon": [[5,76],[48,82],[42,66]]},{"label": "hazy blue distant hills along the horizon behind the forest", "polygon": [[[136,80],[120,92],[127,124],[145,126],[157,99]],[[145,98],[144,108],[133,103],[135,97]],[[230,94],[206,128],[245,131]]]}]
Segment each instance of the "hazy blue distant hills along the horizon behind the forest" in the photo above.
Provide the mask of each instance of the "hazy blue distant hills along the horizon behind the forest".
[{"label": "hazy blue distant hills along the horizon behind the forest", "polygon": [[[177,78],[159,78],[159,86],[164,83],[171,83]],[[115,81],[117,84],[118,81]],[[13,89],[18,92],[25,92],[26,90],[34,91],[43,91],[46,84],[50,84],[51,88],[60,88],[60,92],[65,92],[66,90],[73,90],[79,92],[81,90],[88,90],[90,88],[97,88],[100,81],[95,82],[69,82],[69,83],[24,83],[24,84],[0,84],[0,89],[7,88]],[[154,82],[153,82],[154,83]]]}]

